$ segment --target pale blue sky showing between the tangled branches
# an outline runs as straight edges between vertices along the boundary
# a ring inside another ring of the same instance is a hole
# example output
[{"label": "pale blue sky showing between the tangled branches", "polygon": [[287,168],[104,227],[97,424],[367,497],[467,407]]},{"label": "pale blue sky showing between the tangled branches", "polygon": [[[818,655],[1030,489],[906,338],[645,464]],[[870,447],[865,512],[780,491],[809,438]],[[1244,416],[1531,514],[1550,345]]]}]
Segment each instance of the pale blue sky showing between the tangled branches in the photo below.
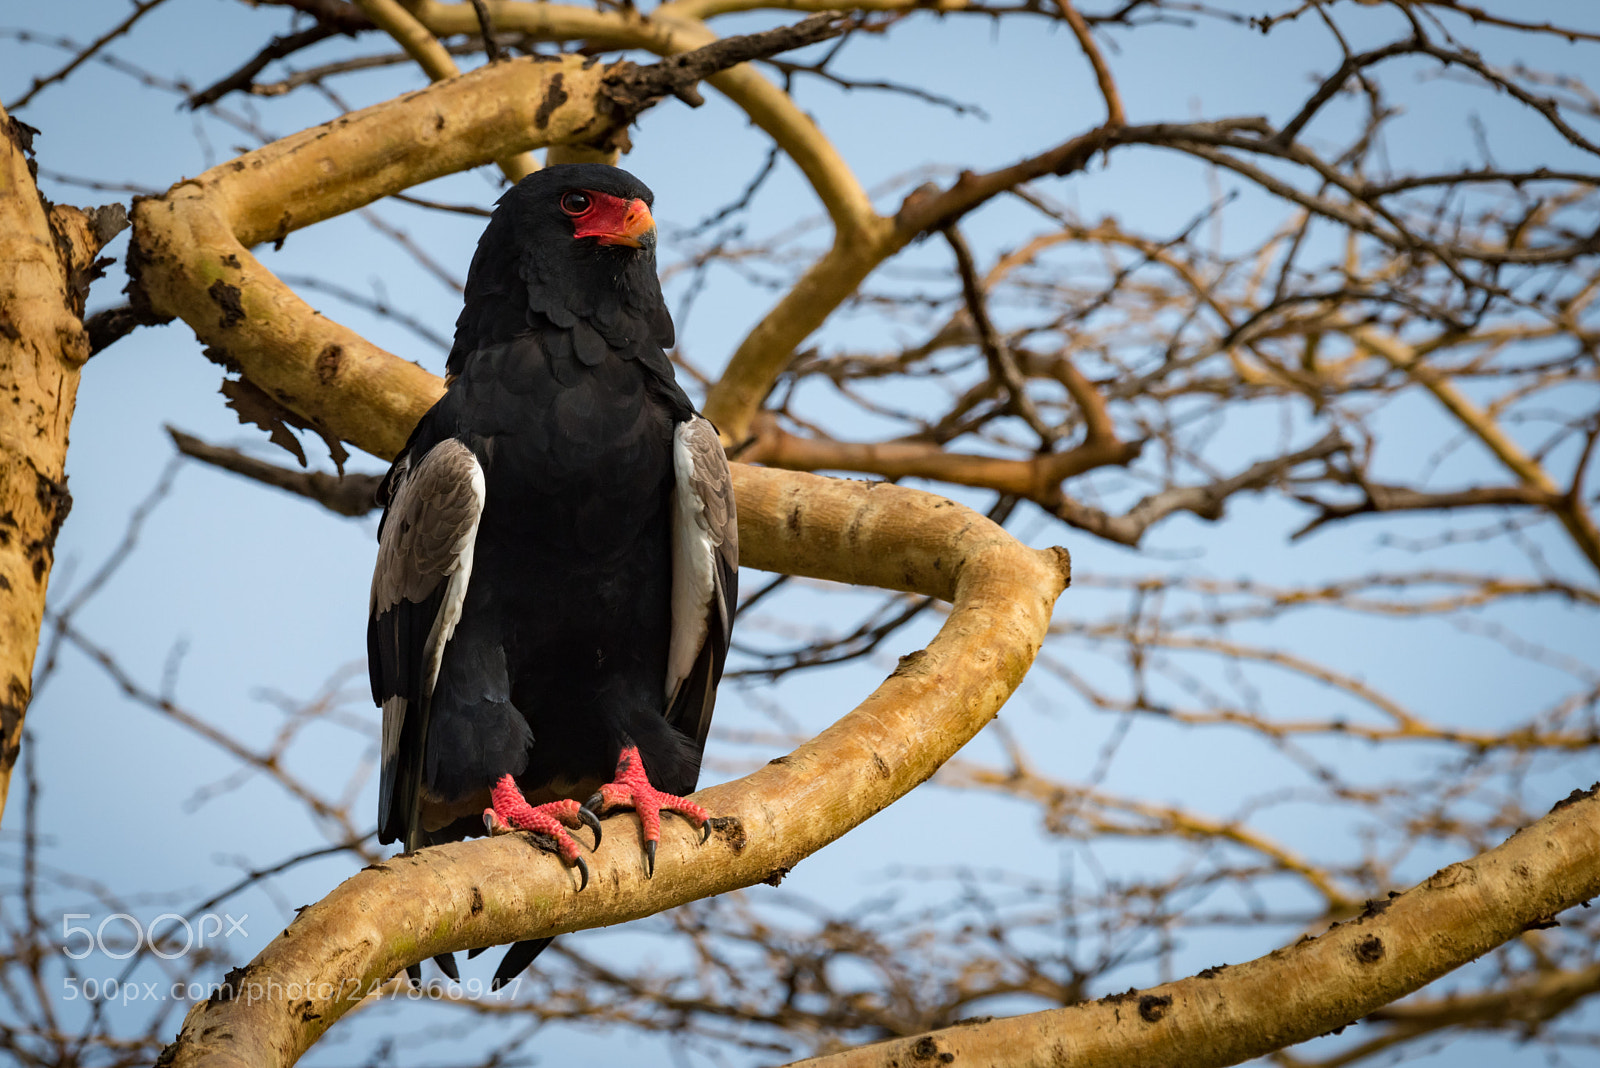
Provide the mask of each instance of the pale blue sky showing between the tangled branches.
[{"label": "pale blue sky showing between the tangled branches", "polygon": [[[122,16],[126,5],[115,0],[77,0],[72,5],[11,5],[8,24],[22,24],[40,34],[90,38]],[[1568,5],[1520,5],[1526,18],[1541,10],[1566,11]],[[723,32],[754,26],[733,19]],[[110,51],[163,75],[181,75],[205,85],[251,54],[272,34],[285,32],[286,18],[278,8],[250,10],[232,0],[171,0],[139,24],[134,34]],[[1355,46],[1390,32],[1394,16],[1360,13],[1352,16]],[[1118,45],[1109,51],[1130,118],[1184,120],[1195,114],[1267,114],[1282,122],[1302,99],[1310,72],[1328,70],[1338,62],[1333,43],[1309,19],[1280,27],[1270,37],[1243,26],[1202,22],[1198,29],[1146,27],[1134,34],[1112,35]],[[1530,45],[1498,32],[1474,37],[1496,62],[1525,59],[1533,64],[1592,69],[1594,50],[1579,53],[1558,43]],[[352,46],[333,42],[306,54],[309,64],[350,51],[386,51],[378,42]],[[27,82],[54,69],[67,53],[40,43],[0,38],[0,99],[13,101]],[[464,61],[467,62],[467,61]],[[1490,141],[1502,165],[1570,163],[1570,153],[1549,131],[1514,110],[1502,98],[1467,91],[1459,83],[1424,77],[1422,64],[1398,69],[1392,77],[1403,88],[1406,109],[1400,136],[1389,144],[1390,158],[1403,169],[1411,163],[1467,163],[1475,158],[1469,114],[1483,117]],[[846,51],[845,69],[923,85],[965,102],[979,104],[987,118],[960,117],[928,109],[898,96],[858,90],[840,93],[806,83],[800,101],[813,110],[843,157],[869,189],[886,185],[912,166],[936,165],[946,174],[960,168],[987,168],[1038,152],[1093,125],[1101,101],[1070,35],[1046,30],[1042,22],[1014,21],[990,26],[981,19],[915,18],[883,38],[864,38]],[[419,75],[408,66],[338,82],[352,106],[376,102],[416,88]],[[176,107],[170,93],[141,86],[125,72],[90,64],[64,86],[45,90],[18,117],[42,130],[37,142],[45,171],[45,192],[62,201],[98,203],[125,198],[123,193],[93,193],[50,177],[67,174],[112,182],[133,182],[165,189],[182,176],[251,145],[246,134],[210,118],[195,118]],[[336,109],[314,94],[293,94],[275,101],[230,102],[272,134],[286,134],[323,122]],[[1336,106],[1309,131],[1333,139],[1349,109]],[[746,122],[731,106],[707,93],[707,104],[691,110],[667,101],[645,115],[634,131],[635,149],[624,166],[656,190],[656,216],[664,241],[733,200],[760,166],[765,145],[749,136]],[[1093,166],[1072,179],[1043,182],[1051,197],[1069,203],[1086,219],[1118,214],[1149,232],[1174,230],[1203,211],[1211,200],[1202,168],[1171,155],[1130,152],[1110,163]],[[488,205],[498,195],[493,174],[475,173],[443,179],[419,190],[422,195]],[[878,206],[893,209],[904,184],[894,185]],[[776,233],[792,221],[818,214],[818,203],[800,176],[781,165],[755,200],[752,227]],[[405,227],[424,245],[446,272],[461,278],[470,259],[480,222],[443,217],[403,205],[381,205],[378,213]],[[1262,198],[1243,193],[1227,211],[1221,240],[1246,246],[1280,221],[1280,211]],[[981,259],[1013,246],[1035,217],[1013,203],[995,205],[974,216],[966,229]],[[816,246],[819,237],[811,240]],[[126,238],[109,254],[120,256]],[[259,251],[259,249],[258,249]],[[290,237],[280,253],[262,251],[264,262],[285,275],[320,273],[354,289],[381,291],[394,305],[426,321],[440,334],[450,333],[458,294],[427,272],[419,270],[394,243],[368,222],[347,216]],[[670,248],[664,249],[670,262]],[[896,285],[894,272],[917,269],[947,270],[946,249],[928,241],[909,249],[870,285]],[[91,293],[91,310],[118,301],[123,278],[114,269]],[[672,291],[682,297],[682,288]],[[442,369],[443,353],[429,347],[392,321],[368,315],[328,296],[309,294],[320,310],[362,331],[378,344],[434,371]],[[770,305],[773,294],[741,280],[733,272],[714,272],[712,285],[698,301],[682,336],[690,360],[715,369],[739,337]],[[867,347],[904,341],[915,329],[904,323],[864,315],[840,315],[818,336],[824,347]],[[74,510],[58,544],[53,600],[59,606],[99,566],[123,536],[130,510],[160,478],[171,446],[163,425],[171,424],[206,440],[242,444],[272,456],[261,436],[242,428],[218,397],[219,368],[198,352],[186,326],[141,329],[96,357],[85,371],[74,420],[69,454]],[[1392,416],[1394,433],[1405,441],[1437,438],[1424,411]],[[1259,425],[1253,425],[1259,422]],[[1248,454],[1258,435],[1272,433],[1272,419],[1240,420],[1227,428]],[[870,432],[864,428],[862,433]],[[325,465],[320,446],[307,443],[312,462]],[[1403,456],[1403,449],[1400,449]],[[283,454],[275,459],[283,460]],[[371,457],[358,456],[352,465],[381,470]],[[965,496],[978,507],[987,502]],[[1184,568],[1194,574],[1219,577],[1250,576],[1258,580],[1290,580],[1307,572],[1350,572],[1352,561],[1368,566],[1395,563],[1413,566],[1416,556],[1384,547],[1376,534],[1360,524],[1288,545],[1285,532],[1294,526],[1293,510],[1283,504],[1240,500],[1232,505],[1230,523],[1206,526],[1176,520],[1150,542],[1146,555],[1090,542],[1037,513],[1021,516],[1013,529],[1038,544],[1066,542],[1082,574],[1138,574],[1171,566],[1171,553],[1184,553]],[[365,598],[373,556],[374,520],[341,520],[318,508],[290,500],[274,491],[238,478],[184,465],[173,492],[152,513],[128,564],[107,588],[77,617],[77,625],[94,641],[115,651],[141,684],[160,689],[170,679],[173,699],[211,723],[254,743],[267,743],[282,727],[283,715],[274,694],[304,700],[320,692],[330,678],[347,691],[350,726],[317,727],[286,755],[290,769],[309,782],[352,782],[352,769],[370,764],[374,748],[376,713],[368,710],[362,670],[365,638]],[[1386,528],[1394,532],[1405,524]],[[1421,532],[1424,523],[1413,524]],[[1560,539],[1542,537],[1550,566],[1563,574],[1576,561]],[[1522,568],[1507,561],[1501,548],[1454,547],[1437,553],[1437,566]],[[754,588],[763,579],[746,576]],[[1592,582],[1592,580],[1590,580]],[[1120,593],[1093,587],[1072,592],[1058,608],[1074,617],[1118,611]],[[827,625],[840,619],[837,593],[805,593],[797,598],[794,619]],[[1534,604],[1510,609],[1512,627],[1594,665],[1592,616],[1574,609]],[[869,662],[850,668],[790,678],[778,686],[731,689],[718,707],[718,727],[725,731],[768,731],[762,713],[779,703],[802,726],[814,729],[843,713],[893,667],[894,657],[925,641],[938,620],[926,620],[896,636],[896,641]],[[1558,692],[1565,683],[1552,673],[1496,652],[1491,643],[1477,643],[1440,625],[1398,628],[1370,620],[1310,614],[1288,622],[1275,635],[1299,648],[1318,648],[1352,670],[1414,700],[1432,716],[1459,723],[1501,723],[1520,713],[1530,695]],[[766,641],[763,636],[762,641]],[[181,654],[181,656],[179,656]],[[1096,664],[1077,651],[1086,671],[1115,673],[1114,662]],[[176,665],[176,667],[173,667]],[[1326,695],[1288,681],[1267,681],[1274,702],[1307,708],[1326,707]],[[363,719],[365,716],[365,719]],[[1067,780],[1088,775],[1099,761],[1107,739],[1122,727],[1110,718],[1075,705],[1062,687],[1048,678],[1034,678],[1003,715],[1003,721],[1026,732],[1029,745],[1048,769]],[[138,915],[150,918],[173,903],[192,905],[237,878],[240,867],[272,863],[288,854],[326,841],[328,828],[306,815],[301,806],[285,801],[282,790],[259,777],[238,777],[237,763],[168,719],[133,705],[115,681],[82,652],[64,651],[58,673],[35,702],[29,729],[30,759],[43,788],[40,828],[51,865],[88,875],[136,903]],[[1293,769],[1256,742],[1237,734],[1174,735],[1134,723],[1122,742],[1118,758],[1109,764],[1106,785],[1155,801],[1181,801],[1198,811],[1226,815],[1242,798],[1282,780],[1285,788],[1302,783]],[[1354,745],[1352,745],[1354,748]],[[731,777],[739,766],[765,759],[778,750],[739,747],[715,740],[707,782]],[[971,756],[997,759],[998,745],[979,739]],[[1349,755],[1346,755],[1349,756]],[[1352,758],[1365,759],[1365,758]],[[1437,764],[1437,753],[1400,750],[1373,758],[1373,777],[1418,774]],[[1589,771],[1600,764],[1589,761]],[[370,771],[370,769],[368,769]],[[357,777],[358,779],[358,777]],[[1570,785],[1562,787],[1560,783]],[[1541,788],[1554,796],[1571,785],[1573,767],[1563,766]],[[357,814],[368,819],[374,807],[376,782],[368,774],[355,787],[362,791]],[[13,787],[13,790],[16,790]],[[3,846],[13,854],[19,806],[6,817]],[[1336,839],[1355,847],[1357,827],[1344,814],[1320,806],[1282,806],[1261,817],[1259,825],[1286,838],[1306,836],[1320,843]],[[786,881],[782,895],[813,897],[850,908],[851,903],[893,892],[904,908],[947,895],[946,879],[893,881],[891,871],[923,865],[930,846],[954,839],[971,843],[970,860],[981,868],[1005,868],[1018,876],[1050,883],[1067,870],[1082,871],[1083,857],[1093,851],[1096,863],[1117,875],[1128,875],[1144,863],[1163,863],[1133,843],[1062,844],[1040,836],[1037,812],[1010,801],[974,798],[934,787],[853,831],[822,854],[802,863]],[[981,843],[981,846],[978,844]],[[1458,857],[1422,855],[1406,871],[1426,875],[1427,865]],[[949,860],[949,859],[947,859]],[[280,929],[294,905],[322,897],[349,873],[344,859],[306,863],[275,879],[270,889],[238,899],[235,911],[248,911],[248,943],[229,943],[238,959],[258,951]],[[1130,875],[1131,878],[1131,875]],[[893,887],[893,889],[890,889]],[[763,887],[749,892],[752,900]],[[61,908],[82,900],[82,892],[58,892]],[[96,916],[99,905],[85,905]],[[1290,932],[1293,934],[1293,932]],[[1278,945],[1282,929],[1229,937],[1226,943],[1195,938],[1179,954],[1195,967],[1211,958],[1240,961]],[[603,932],[584,937],[595,953],[637,956],[651,953],[656,942],[643,932]],[[666,951],[666,950],[662,950]],[[483,961],[475,967],[482,970]],[[221,970],[221,969],[219,969]],[[110,972],[107,972],[110,974]],[[1158,978],[1150,969],[1130,969],[1126,983]],[[1096,991],[1102,993],[1102,991]],[[1018,1006],[1027,1007],[1027,1006]],[[64,1010],[67,1010],[64,1007]],[[70,1010],[67,1010],[70,1012]],[[381,1033],[411,1034],[435,1020],[410,1006],[389,1006],[373,1018],[341,1025],[312,1054],[309,1063],[347,1063],[370,1049]],[[176,1017],[173,1017],[176,1025]],[[421,1060],[400,1055],[402,1063],[434,1063],[438,1047],[424,1047]],[[538,1039],[538,1054],[547,1063],[594,1063],[602,1055],[642,1058],[666,1057],[661,1039],[637,1038],[587,1028],[552,1026]],[[1542,1052],[1520,1050],[1499,1042],[1459,1041],[1437,1058],[1416,1063],[1542,1063]],[[701,1062],[696,1062],[701,1063]],[[707,1062],[709,1063],[709,1062]],[[731,1055],[728,1063],[747,1063]],[[755,1062],[749,1062],[755,1063]]]}]

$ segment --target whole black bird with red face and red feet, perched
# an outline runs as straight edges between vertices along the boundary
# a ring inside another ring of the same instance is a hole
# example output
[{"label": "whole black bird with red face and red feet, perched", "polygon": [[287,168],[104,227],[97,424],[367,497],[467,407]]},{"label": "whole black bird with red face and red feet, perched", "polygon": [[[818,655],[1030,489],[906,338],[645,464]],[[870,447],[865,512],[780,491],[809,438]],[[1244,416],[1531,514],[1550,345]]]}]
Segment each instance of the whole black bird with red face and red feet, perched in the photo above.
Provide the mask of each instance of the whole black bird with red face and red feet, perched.
[{"label": "whole black bird with red face and red feet, perched", "polygon": [[[590,807],[638,812],[648,873],[661,812],[709,831],[678,795],[728,652],[738,529],[717,432],[666,355],[651,203],[613,166],[550,166],[478,241],[445,397],[379,489],[382,843],[533,830],[582,889],[566,828],[598,846]],[[547,943],[512,946],[496,986]]]}]

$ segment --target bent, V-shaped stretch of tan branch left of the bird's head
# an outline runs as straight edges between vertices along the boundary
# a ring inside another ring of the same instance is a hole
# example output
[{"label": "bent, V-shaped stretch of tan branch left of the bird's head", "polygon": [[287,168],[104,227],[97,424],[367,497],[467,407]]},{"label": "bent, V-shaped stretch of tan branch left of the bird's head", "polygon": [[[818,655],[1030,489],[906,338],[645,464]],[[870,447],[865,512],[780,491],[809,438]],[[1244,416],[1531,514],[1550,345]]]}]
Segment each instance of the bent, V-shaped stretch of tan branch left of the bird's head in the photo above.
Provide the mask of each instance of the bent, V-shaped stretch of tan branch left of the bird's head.
[{"label": "bent, V-shaped stretch of tan branch left of the bird's head", "polygon": [[150,305],[322,428],[394,456],[442,389],[317,315],[246,249],[419,182],[606,136],[608,67],[514,59],[245,153],[134,205],[130,265]]}]

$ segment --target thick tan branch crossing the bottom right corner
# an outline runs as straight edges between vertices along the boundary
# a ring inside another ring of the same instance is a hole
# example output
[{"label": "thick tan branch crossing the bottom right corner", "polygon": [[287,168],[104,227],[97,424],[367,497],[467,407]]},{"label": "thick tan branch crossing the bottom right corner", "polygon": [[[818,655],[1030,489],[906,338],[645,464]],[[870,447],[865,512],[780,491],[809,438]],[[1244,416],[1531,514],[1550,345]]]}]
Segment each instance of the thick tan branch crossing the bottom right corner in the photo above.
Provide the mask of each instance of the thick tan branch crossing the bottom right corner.
[{"label": "thick tan branch crossing the bottom right corner", "polygon": [[1600,798],[1317,938],[1176,983],[862,1046],[789,1068],[1216,1068],[1352,1023],[1600,894]]}]

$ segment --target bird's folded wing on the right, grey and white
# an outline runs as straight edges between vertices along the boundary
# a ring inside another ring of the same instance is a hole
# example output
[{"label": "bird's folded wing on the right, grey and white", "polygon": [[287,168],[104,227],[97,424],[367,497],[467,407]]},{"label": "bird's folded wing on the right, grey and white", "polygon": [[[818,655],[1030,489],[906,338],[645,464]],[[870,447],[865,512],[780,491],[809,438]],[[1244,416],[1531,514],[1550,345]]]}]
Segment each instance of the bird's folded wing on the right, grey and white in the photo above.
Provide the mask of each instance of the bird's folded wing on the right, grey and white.
[{"label": "bird's folded wing on the right, grey and white", "polygon": [[706,745],[739,598],[739,526],[717,428],[699,416],[672,435],[672,641],[667,721]]}]

